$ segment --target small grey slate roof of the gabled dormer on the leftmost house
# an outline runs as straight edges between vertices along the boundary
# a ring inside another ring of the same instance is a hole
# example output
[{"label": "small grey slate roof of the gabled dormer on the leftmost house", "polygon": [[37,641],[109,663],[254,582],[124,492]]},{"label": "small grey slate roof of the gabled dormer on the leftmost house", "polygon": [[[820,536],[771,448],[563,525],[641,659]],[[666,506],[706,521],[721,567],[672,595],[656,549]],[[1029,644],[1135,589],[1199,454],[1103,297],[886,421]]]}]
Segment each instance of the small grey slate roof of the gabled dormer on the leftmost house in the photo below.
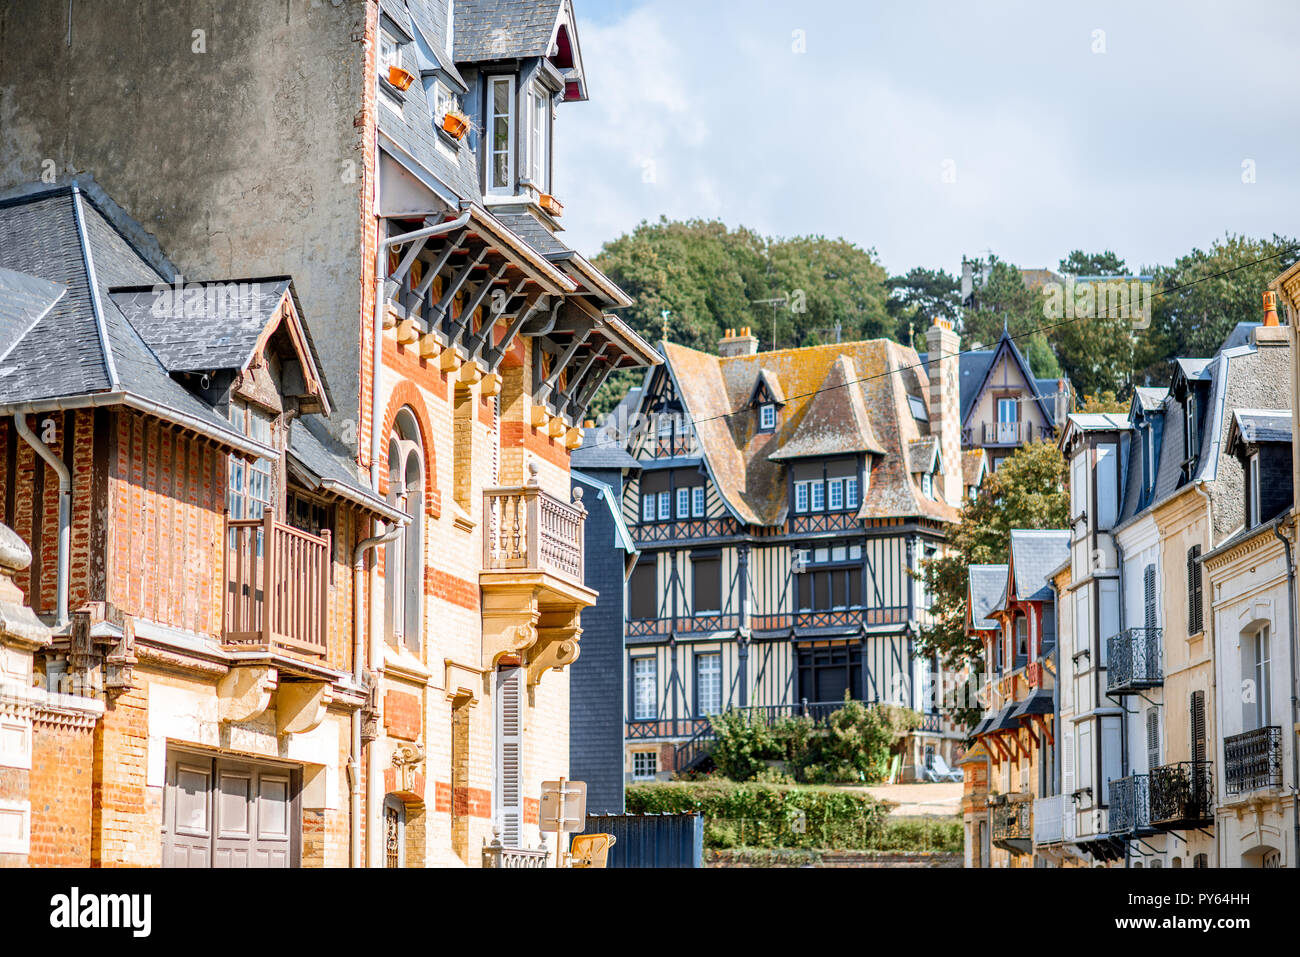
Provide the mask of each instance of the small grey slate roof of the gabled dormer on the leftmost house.
[{"label": "small grey slate roof of the gabled dormer on the leftmost house", "polygon": [[[109,298],[168,372],[243,369],[289,291],[289,280],[186,282],[187,290],[191,285],[202,287],[196,290],[202,298],[191,298],[187,291],[160,302],[152,289],[114,290]],[[221,286],[238,290],[240,285],[247,295],[237,291],[231,300],[216,294]],[[213,289],[212,295],[208,289]]]}]

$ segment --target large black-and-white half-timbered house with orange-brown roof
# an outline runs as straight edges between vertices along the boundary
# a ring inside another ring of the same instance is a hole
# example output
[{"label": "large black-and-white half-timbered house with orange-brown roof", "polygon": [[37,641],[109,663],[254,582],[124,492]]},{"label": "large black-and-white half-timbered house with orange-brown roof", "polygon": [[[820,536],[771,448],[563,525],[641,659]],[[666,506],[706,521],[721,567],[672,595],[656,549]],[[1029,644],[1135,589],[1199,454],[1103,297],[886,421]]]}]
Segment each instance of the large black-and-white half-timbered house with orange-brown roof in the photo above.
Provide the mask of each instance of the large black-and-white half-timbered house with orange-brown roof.
[{"label": "large black-and-white half-timbered house with orange-brown roof", "polygon": [[[915,654],[928,601],[909,572],[942,549],[966,492],[957,334],[930,364],[887,339],[759,352],[741,329],[711,355],[663,343],[627,428],[640,471],[623,514],[640,559],[628,585],[627,737],[633,778],[707,750],[729,707],[820,716],[845,697],[926,714],[952,755]],[[611,432],[612,430],[612,432]]]}]

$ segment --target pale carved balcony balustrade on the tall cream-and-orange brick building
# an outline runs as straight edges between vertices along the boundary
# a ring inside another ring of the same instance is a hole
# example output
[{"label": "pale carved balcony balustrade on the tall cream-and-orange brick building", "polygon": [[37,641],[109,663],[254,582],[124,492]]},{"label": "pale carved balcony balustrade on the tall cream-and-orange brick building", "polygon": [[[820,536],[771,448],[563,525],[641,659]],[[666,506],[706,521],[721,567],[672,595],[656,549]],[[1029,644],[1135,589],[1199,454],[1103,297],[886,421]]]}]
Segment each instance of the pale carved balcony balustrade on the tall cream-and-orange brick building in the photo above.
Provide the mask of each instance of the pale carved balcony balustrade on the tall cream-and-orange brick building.
[{"label": "pale carved balcony balustrade on the tall cream-and-orange brick building", "polygon": [[578,492],[569,505],[536,485],[486,489],[484,568],[549,571],[581,583],[586,510]]}]

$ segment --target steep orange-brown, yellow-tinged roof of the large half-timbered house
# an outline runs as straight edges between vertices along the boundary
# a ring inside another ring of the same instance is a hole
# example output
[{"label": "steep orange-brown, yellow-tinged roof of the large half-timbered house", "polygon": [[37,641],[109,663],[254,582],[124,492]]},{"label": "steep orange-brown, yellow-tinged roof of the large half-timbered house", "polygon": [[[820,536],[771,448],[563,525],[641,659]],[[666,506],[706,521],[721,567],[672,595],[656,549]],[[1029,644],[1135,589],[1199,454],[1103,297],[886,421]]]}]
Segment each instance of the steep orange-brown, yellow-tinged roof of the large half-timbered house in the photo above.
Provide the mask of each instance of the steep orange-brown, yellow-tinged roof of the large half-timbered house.
[{"label": "steep orange-brown, yellow-tinged roof of the large half-timbered house", "polygon": [[[905,460],[907,442],[920,437],[907,395],[930,393],[911,348],[870,339],[722,358],[676,343],[659,347],[719,494],[741,521],[785,520],[788,459],[854,450],[880,455],[858,519],[957,520],[956,508],[920,494]],[[748,403],[764,368],[786,397],[775,432],[750,428],[754,413]]]}]

